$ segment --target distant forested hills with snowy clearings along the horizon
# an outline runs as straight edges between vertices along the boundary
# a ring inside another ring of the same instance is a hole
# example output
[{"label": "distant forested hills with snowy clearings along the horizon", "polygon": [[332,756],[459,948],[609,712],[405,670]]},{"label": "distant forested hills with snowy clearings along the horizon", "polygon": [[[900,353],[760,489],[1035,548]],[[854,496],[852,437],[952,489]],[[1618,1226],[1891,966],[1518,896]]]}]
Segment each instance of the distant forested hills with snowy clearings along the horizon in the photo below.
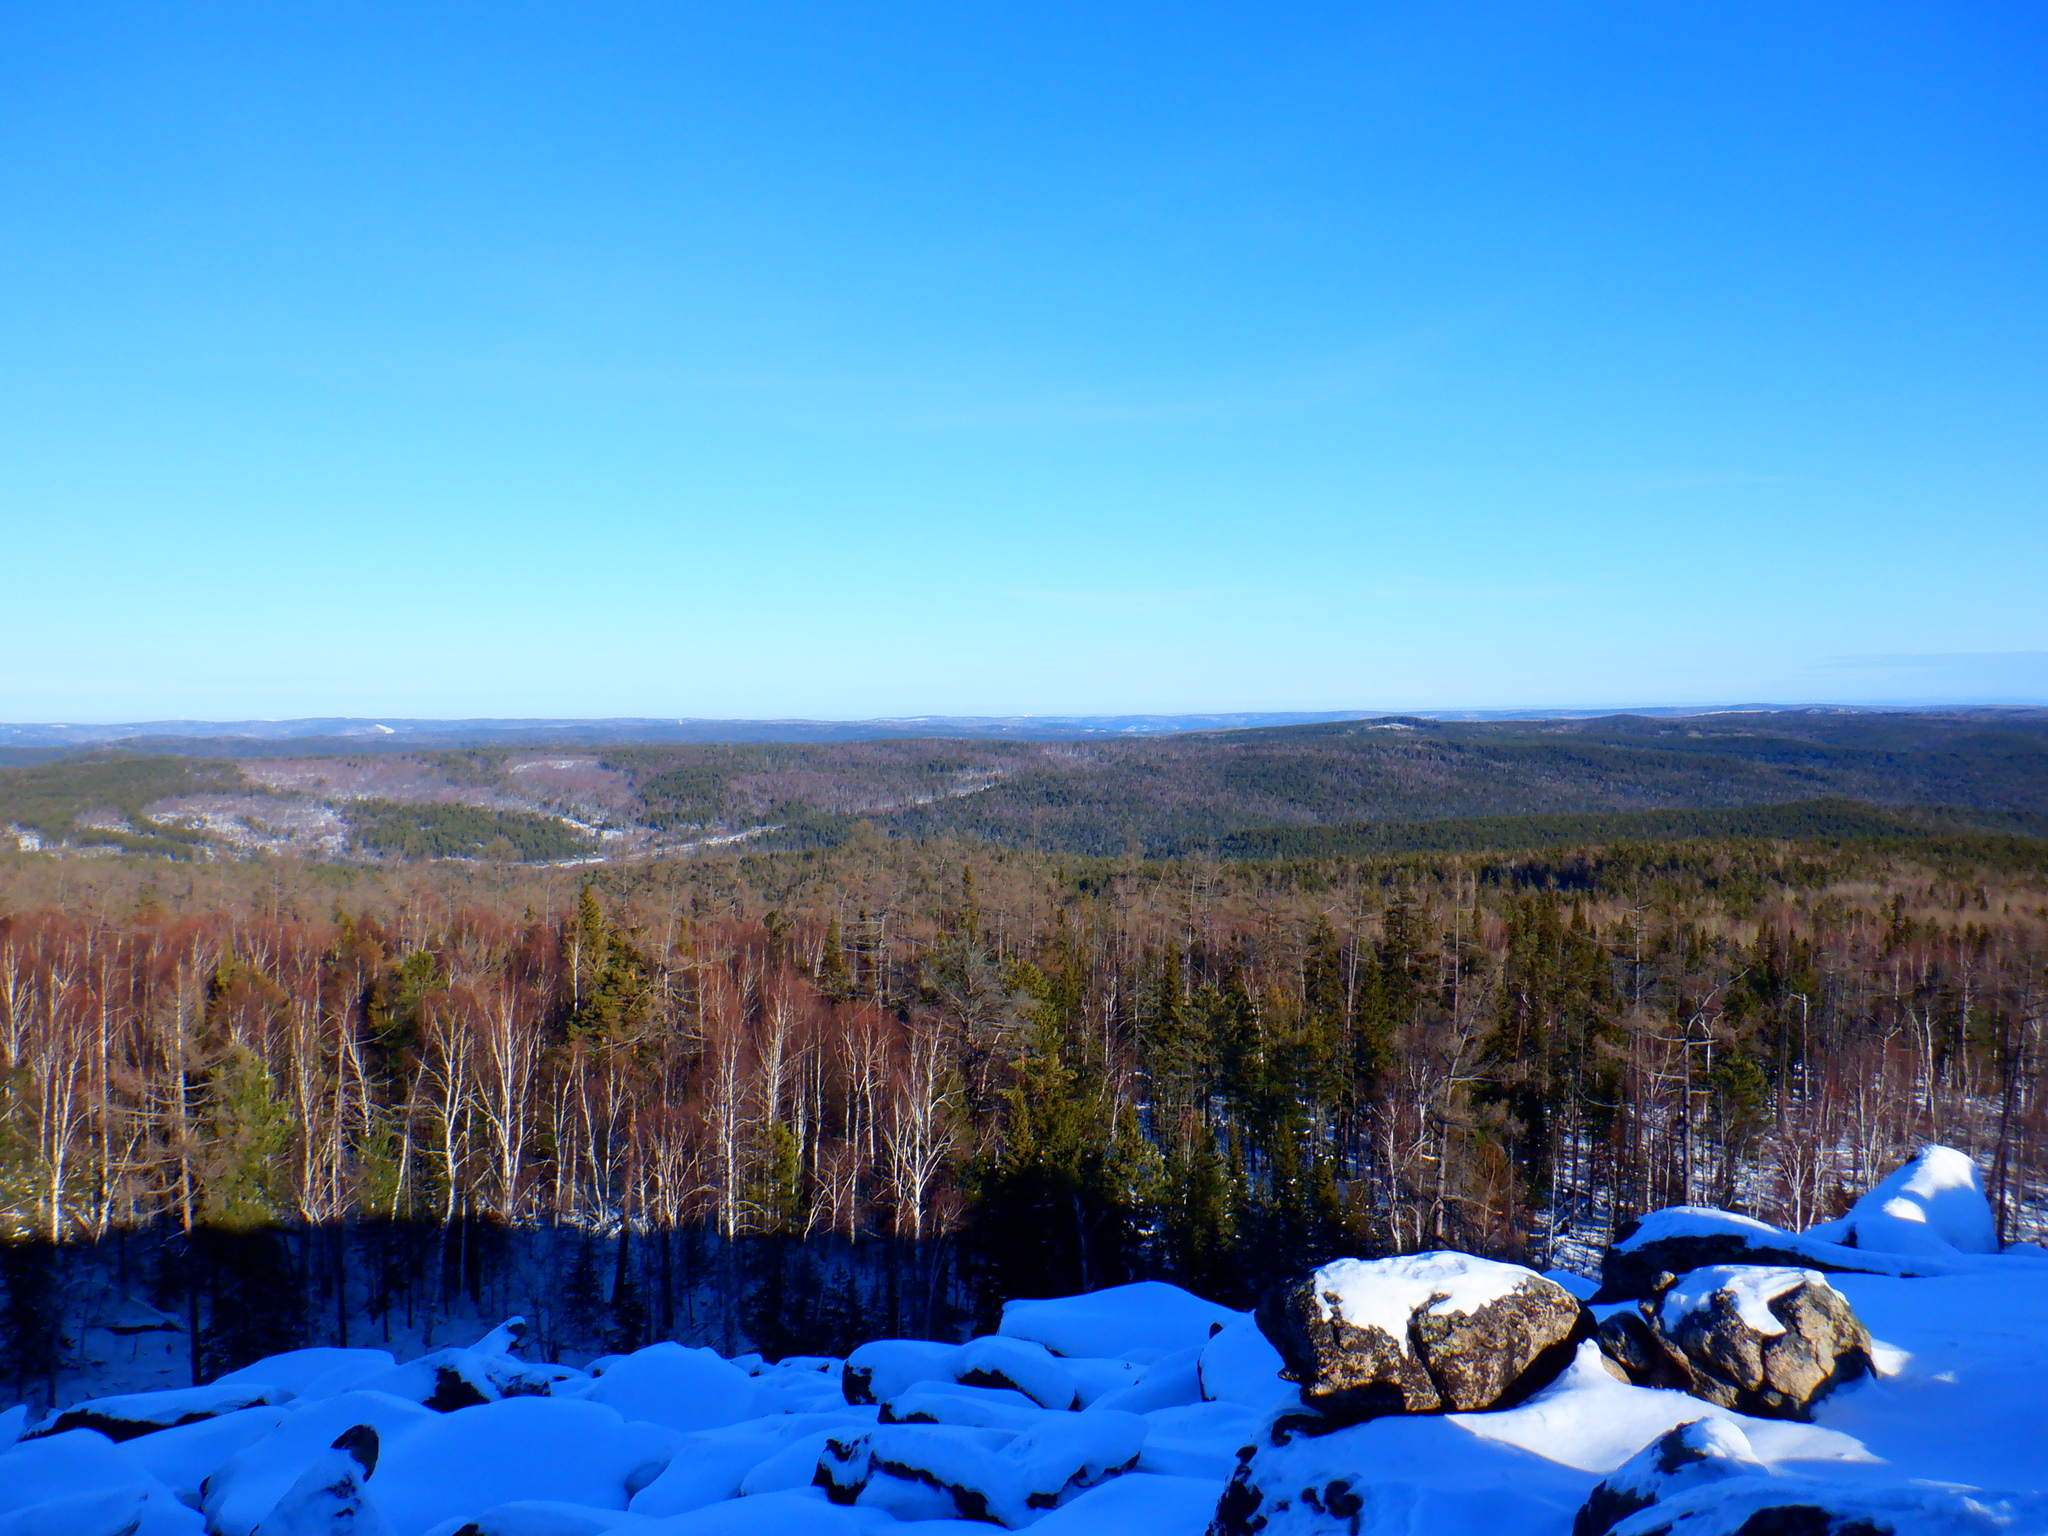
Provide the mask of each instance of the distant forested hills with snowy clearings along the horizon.
[{"label": "distant forested hills with snowy clearings along the horizon", "polygon": [[489,745],[0,768],[23,846],[631,860],[967,836],[1235,858],[1614,838],[2048,834],[2048,711],[1382,717],[1071,741]]}]

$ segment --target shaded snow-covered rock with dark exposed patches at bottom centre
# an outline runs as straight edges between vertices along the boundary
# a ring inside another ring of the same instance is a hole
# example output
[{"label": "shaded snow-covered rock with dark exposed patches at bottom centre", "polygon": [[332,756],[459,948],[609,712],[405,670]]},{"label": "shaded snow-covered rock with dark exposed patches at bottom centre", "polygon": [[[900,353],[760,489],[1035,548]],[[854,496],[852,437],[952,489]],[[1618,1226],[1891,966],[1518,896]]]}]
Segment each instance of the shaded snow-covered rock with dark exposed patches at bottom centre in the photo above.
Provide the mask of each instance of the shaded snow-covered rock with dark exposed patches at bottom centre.
[{"label": "shaded snow-covered rock with dark exposed patches at bottom centre", "polygon": [[1018,1530],[1128,1470],[1143,1448],[1145,1421],[1106,1409],[1047,1413],[1022,1434],[883,1423],[829,1436],[817,1481],[834,1503],[881,1507],[899,1520],[961,1516]]}]

